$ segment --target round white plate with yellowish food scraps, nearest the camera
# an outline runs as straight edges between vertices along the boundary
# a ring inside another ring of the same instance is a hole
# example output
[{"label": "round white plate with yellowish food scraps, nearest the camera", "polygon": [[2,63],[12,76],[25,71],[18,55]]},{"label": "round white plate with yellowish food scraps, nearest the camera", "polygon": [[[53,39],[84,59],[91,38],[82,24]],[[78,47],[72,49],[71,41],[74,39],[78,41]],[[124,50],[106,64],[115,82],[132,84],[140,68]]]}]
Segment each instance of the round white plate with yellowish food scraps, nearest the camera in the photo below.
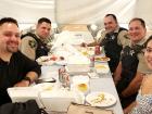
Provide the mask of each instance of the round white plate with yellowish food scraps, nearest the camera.
[{"label": "round white plate with yellowish food scraps, nearest the camera", "polygon": [[92,106],[111,106],[116,103],[116,98],[107,92],[91,92],[86,101]]}]

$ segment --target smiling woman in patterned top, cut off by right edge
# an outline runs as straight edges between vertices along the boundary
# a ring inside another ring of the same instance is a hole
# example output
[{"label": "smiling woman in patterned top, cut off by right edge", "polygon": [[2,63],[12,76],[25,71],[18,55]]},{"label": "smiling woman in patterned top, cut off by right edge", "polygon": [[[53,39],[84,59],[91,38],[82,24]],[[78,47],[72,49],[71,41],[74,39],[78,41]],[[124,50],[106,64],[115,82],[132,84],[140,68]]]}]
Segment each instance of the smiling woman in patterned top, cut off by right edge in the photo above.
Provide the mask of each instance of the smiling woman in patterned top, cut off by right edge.
[{"label": "smiling woman in patterned top, cut off by right edge", "polygon": [[152,36],[149,37],[144,47],[144,60],[151,72],[143,77],[136,102],[127,106],[124,114],[152,114]]}]

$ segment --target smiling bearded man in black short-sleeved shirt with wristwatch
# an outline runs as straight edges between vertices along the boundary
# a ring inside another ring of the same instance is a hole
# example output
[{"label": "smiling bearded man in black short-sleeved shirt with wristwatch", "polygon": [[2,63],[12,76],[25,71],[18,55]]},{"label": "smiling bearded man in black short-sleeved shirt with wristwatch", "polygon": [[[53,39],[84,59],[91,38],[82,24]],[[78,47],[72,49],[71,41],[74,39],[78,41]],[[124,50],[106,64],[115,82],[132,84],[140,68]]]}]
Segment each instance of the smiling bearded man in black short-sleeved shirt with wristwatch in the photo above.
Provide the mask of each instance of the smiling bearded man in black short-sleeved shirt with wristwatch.
[{"label": "smiling bearded man in black short-sleeved shirt with wristwatch", "polygon": [[40,75],[40,66],[18,51],[21,42],[16,20],[0,20],[0,105],[11,102],[9,87],[27,87]]}]

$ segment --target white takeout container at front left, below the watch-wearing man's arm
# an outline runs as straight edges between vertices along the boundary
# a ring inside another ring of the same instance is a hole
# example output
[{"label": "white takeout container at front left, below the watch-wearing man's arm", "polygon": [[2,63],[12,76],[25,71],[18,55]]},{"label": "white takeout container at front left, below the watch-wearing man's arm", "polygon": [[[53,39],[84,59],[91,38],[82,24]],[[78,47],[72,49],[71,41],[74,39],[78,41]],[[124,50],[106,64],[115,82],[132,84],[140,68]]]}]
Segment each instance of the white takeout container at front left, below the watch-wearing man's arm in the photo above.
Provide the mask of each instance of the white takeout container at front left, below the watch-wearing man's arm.
[{"label": "white takeout container at front left, below the watch-wearing man's arm", "polygon": [[31,87],[8,88],[8,93],[12,102],[25,102],[35,99],[39,107],[45,107],[40,94],[45,91],[53,92],[55,90],[58,90],[58,85],[55,83],[42,83]]}]

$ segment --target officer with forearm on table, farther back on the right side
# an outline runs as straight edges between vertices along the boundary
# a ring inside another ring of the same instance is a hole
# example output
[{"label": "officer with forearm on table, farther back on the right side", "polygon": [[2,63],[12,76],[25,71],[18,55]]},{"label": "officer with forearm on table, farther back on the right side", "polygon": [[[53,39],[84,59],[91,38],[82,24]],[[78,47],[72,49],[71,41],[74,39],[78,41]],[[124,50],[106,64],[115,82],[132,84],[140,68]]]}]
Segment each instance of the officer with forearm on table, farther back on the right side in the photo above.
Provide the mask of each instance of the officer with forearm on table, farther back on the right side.
[{"label": "officer with forearm on table, farther back on the right side", "polygon": [[99,40],[88,46],[100,45],[104,47],[105,55],[111,59],[109,65],[113,73],[119,62],[121,51],[129,39],[127,38],[127,29],[118,26],[114,14],[106,14],[104,16],[104,28],[105,30],[99,31],[97,35]]}]

